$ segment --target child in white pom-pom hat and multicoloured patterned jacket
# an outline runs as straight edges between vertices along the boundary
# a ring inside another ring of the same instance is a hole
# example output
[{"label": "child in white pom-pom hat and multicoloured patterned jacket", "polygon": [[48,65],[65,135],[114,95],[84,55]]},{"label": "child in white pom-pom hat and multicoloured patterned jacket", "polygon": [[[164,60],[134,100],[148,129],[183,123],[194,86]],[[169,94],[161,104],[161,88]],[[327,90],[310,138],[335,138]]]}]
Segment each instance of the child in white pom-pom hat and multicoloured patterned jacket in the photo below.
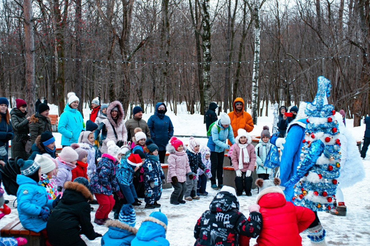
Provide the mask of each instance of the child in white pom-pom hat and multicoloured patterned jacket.
[{"label": "child in white pom-pom hat and multicoloured patterned jacket", "polygon": [[55,180],[55,163],[47,155],[36,155],[35,157],[35,161],[41,168],[41,177],[38,184],[45,187],[48,199],[54,200],[58,196],[58,186]]}]

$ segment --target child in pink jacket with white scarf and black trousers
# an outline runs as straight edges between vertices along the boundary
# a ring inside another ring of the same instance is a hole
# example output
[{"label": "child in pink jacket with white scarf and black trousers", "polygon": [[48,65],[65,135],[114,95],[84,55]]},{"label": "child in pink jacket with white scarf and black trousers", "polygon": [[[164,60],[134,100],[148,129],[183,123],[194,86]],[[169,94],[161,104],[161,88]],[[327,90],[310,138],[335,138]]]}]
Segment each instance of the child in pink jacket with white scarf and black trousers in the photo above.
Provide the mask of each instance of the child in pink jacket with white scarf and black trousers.
[{"label": "child in pink jacket with white scarf and black trousers", "polygon": [[235,186],[236,195],[245,194],[250,197],[252,192],[252,172],[256,164],[256,151],[252,143],[252,138],[246,130],[238,129],[238,136],[235,138],[231,153],[231,163],[236,172]]}]

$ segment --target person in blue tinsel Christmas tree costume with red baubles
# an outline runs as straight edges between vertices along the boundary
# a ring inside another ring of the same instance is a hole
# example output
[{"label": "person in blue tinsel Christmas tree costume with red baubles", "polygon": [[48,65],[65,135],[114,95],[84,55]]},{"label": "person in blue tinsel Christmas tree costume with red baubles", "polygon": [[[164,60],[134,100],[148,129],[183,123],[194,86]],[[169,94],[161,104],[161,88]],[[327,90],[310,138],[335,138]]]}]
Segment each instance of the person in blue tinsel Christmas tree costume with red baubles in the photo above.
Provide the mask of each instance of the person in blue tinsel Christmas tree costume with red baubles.
[{"label": "person in blue tinsel Christmas tree costume with red baubles", "polygon": [[294,185],[295,205],[304,206],[315,212],[316,219],[309,226],[309,238],[313,245],[325,245],[325,230],[322,228],[317,211],[333,207],[340,175],[340,140],[338,122],[334,118],[333,105],[324,105],[330,95],[330,81],[323,76],[317,78],[318,91],[312,103],[308,103],[300,163],[296,174],[284,184]]}]

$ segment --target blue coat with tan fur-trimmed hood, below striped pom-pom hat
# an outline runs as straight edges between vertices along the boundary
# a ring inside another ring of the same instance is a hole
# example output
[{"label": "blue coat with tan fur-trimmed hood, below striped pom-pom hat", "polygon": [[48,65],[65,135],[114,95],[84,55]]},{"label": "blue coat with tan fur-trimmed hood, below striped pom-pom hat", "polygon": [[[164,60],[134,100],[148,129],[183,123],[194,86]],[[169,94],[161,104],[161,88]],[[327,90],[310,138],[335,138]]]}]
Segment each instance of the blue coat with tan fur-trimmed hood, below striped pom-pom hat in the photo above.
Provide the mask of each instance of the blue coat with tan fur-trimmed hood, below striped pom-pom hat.
[{"label": "blue coat with tan fur-trimmed hood, below striped pom-pom hat", "polygon": [[101,238],[102,246],[130,246],[138,231],[136,228],[117,220],[107,221],[105,226],[109,229]]}]

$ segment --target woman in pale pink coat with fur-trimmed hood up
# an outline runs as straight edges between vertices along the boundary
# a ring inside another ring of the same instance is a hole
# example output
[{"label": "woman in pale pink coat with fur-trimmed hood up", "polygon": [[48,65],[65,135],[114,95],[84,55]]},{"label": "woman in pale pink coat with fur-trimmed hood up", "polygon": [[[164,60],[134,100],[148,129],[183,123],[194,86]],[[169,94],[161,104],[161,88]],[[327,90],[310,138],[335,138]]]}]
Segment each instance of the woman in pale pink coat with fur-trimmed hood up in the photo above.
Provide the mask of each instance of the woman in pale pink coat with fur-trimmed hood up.
[{"label": "woman in pale pink coat with fur-trimmed hood up", "polygon": [[117,143],[117,141],[127,141],[127,129],[123,120],[124,116],[125,113],[120,102],[113,101],[109,104],[107,108],[107,119],[102,121],[107,129],[107,137],[101,146],[101,153],[107,153],[107,143],[110,140],[114,141],[114,143]]}]

